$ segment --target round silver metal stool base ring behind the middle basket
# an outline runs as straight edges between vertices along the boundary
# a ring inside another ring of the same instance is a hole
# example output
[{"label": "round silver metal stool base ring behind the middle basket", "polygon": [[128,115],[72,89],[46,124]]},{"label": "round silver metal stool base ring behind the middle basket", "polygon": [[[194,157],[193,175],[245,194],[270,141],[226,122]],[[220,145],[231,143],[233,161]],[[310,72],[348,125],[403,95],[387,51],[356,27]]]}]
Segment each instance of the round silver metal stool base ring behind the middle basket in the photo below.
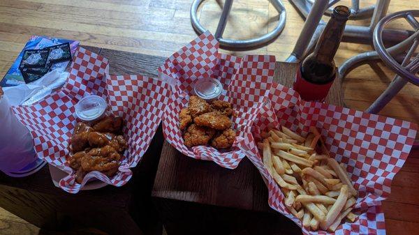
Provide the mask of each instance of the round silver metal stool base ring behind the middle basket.
[{"label": "round silver metal stool base ring behind the middle basket", "polygon": [[[198,7],[200,6],[200,3],[203,3],[203,1],[204,0],[195,0],[191,6],[191,24],[198,35],[207,31],[207,29],[205,29],[200,24],[196,15],[198,12]],[[279,22],[274,30],[258,38],[251,38],[247,40],[231,40],[223,38],[223,31],[226,28],[228,14],[230,13],[231,6],[233,5],[233,0],[226,0],[223,6],[223,12],[221,13],[219,24],[216,27],[214,34],[215,38],[219,41],[220,46],[230,50],[248,50],[257,47],[263,47],[264,45],[269,44],[272,42],[272,40],[277,38],[277,36],[279,36],[285,27],[286,11],[280,0],[270,0],[270,2],[279,13]]]}]

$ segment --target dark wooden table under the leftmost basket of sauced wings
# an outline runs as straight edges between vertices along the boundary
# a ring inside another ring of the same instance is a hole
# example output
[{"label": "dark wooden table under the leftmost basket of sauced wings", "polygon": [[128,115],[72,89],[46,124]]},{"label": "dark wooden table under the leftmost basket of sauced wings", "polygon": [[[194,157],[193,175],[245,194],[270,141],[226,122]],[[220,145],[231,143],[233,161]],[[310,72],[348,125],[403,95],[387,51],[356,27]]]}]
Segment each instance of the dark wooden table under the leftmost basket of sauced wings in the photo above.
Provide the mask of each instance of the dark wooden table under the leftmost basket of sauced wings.
[{"label": "dark wooden table under the leftmost basket of sauced wings", "polygon": [[[157,68],[164,61],[156,56],[86,48],[108,58],[110,73],[115,75],[156,77]],[[95,227],[109,234],[161,234],[150,193],[162,145],[159,128],[142,161],[133,169],[133,178],[120,188],[106,186],[71,195],[53,185],[47,166],[24,178],[11,178],[0,172],[0,207],[45,232],[54,231],[50,234],[74,227]]]}]

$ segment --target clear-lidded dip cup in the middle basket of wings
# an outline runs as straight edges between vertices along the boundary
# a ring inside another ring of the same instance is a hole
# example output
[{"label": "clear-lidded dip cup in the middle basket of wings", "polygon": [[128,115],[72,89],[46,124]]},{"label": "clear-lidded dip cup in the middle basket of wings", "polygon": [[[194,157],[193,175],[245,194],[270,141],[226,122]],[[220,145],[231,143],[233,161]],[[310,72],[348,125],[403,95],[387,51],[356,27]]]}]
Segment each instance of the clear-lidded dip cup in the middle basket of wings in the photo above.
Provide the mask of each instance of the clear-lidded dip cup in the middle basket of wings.
[{"label": "clear-lidded dip cup in the middle basket of wings", "polygon": [[223,84],[218,79],[210,77],[198,79],[193,86],[193,91],[196,96],[204,100],[214,100],[223,92]]}]

